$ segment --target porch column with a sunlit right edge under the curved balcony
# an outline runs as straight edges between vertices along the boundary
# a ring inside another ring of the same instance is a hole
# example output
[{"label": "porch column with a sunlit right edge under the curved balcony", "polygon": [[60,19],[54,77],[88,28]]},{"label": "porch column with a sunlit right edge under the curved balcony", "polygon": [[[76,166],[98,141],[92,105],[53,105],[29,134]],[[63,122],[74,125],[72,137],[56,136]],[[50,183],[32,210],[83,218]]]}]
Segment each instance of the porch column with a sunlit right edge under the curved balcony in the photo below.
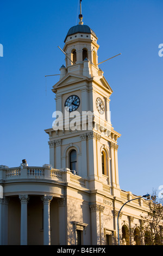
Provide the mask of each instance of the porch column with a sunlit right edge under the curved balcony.
[{"label": "porch column with a sunlit right edge under the curved balcony", "polygon": [[51,245],[50,203],[53,196],[43,196],[43,245]]}]

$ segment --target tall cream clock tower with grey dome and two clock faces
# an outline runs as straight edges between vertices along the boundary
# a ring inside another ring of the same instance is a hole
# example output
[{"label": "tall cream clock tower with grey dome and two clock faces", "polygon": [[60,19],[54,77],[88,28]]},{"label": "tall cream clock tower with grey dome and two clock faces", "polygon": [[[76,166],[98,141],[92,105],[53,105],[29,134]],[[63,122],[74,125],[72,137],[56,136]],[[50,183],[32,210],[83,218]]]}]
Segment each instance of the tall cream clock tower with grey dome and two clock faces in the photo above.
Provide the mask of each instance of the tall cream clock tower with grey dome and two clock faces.
[{"label": "tall cream clock tower with grey dome and two clock faces", "polygon": [[[53,86],[56,112],[49,135],[50,164],[89,180],[91,190],[105,186],[114,196],[118,182],[117,138],[110,120],[112,89],[98,66],[97,35],[83,24],[69,29],[62,52],[65,64]],[[64,56],[63,54],[63,56]]]}]

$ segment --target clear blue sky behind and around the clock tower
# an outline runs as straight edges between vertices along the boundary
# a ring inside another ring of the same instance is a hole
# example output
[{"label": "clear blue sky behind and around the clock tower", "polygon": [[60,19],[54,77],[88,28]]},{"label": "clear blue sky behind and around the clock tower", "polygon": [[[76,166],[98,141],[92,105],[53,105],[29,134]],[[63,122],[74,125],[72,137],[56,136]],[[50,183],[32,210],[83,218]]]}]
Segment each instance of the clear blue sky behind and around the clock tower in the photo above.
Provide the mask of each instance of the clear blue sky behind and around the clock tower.
[{"label": "clear blue sky behind and around the clock tower", "polygon": [[[55,111],[52,86],[65,56],[68,29],[78,23],[79,1],[0,0],[0,164],[49,162]],[[98,60],[114,93],[110,110],[118,139],[120,187],[134,194],[163,185],[162,0],[83,0],[85,25],[98,36]]]}]

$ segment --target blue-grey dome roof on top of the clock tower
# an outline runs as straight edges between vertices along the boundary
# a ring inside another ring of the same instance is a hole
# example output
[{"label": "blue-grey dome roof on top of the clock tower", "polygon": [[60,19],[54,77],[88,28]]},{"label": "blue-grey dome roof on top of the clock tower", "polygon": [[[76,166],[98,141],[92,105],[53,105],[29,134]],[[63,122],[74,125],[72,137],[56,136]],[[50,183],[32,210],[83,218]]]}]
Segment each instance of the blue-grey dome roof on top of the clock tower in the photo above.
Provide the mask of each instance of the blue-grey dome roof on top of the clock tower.
[{"label": "blue-grey dome roof on top of the clock tower", "polygon": [[[76,25],[76,26],[73,26],[69,29],[64,42],[66,42],[67,36],[74,35],[76,33],[86,33],[86,34],[92,34],[92,35],[96,36],[95,32],[93,32],[92,29],[89,26],[87,26],[87,25]],[[96,36],[96,38],[97,38],[97,36]]]}]

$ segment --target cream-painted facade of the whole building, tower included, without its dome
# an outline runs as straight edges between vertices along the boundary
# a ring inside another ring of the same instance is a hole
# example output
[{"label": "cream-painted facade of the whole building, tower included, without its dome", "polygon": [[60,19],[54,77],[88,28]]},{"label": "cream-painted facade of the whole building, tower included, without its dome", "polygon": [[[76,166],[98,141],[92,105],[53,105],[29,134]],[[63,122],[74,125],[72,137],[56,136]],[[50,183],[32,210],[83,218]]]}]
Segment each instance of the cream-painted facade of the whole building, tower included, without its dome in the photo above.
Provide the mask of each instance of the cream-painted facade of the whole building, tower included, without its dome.
[{"label": "cream-painted facade of the whole building, tower included, without its dome", "polygon": [[[136,196],[120,188],[117,139],[121,135],[110,121],[112,89],[97,65],[98,47],[93,32],[77,32],[65,40],[63,51],[68,58],[60,68],[60,80],[52,90],[56,96],[56,109],[63,113],[66,129],[64,126],[63,130],[45,130],[49,136],[49,164],[29,167],[25,162],[14,168],[0,166],[3,187],[1,245],[117,243],[118,211],[123,203]],[[68,120],[65,111],[65,101],[71,95],[80,99],[77,108],[80,117],[84,111],[93,113],[91,130],[87,123],[82,126],[80,118],[74,124],[76,130],[67,127],[73,124],[74,118],[71,112]],[[98,97],[104,104],[103,114],[97,110]],[[72,150],[76,151],[75,172],[70,166]],[[124,206],[120,234],[124,226],[128,233],[139,228],[142,211],[148,211],[144,199]],[[131,240],[130,243],[134,243]]]}]

